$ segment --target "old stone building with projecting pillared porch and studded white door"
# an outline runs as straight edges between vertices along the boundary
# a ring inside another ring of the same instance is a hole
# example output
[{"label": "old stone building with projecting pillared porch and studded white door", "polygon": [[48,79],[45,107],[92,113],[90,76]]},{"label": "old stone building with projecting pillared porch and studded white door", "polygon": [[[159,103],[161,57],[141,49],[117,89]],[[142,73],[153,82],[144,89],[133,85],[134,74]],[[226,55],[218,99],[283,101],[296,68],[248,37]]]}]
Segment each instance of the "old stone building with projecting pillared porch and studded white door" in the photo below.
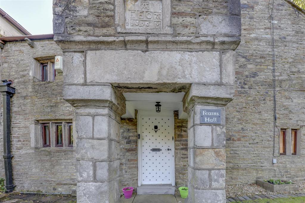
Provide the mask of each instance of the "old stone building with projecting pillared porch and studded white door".
[{"label": "old stone building with projecting pillared porch and studded white door", "polygon": [[304,11],[275,0],[270,29],[268,8],[55,0],[54,36],[1,37],[15,190],[117,202],[188,186],[188,202],[225,202],[225,184],[304,181]]}]

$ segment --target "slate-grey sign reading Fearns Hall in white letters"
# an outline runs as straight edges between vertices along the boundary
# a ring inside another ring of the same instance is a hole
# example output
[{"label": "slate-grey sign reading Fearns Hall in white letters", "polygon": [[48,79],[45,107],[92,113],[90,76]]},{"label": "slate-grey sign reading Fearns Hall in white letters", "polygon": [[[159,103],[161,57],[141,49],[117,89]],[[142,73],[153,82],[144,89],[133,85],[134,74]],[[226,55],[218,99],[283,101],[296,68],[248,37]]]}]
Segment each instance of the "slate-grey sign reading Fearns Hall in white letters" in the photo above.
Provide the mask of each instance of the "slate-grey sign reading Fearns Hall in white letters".
[{"label": "slate-grey sign reading Fearns Hall in white letters", "polygon": [[221,109],[200,109],[200,123],[221,124]]}]

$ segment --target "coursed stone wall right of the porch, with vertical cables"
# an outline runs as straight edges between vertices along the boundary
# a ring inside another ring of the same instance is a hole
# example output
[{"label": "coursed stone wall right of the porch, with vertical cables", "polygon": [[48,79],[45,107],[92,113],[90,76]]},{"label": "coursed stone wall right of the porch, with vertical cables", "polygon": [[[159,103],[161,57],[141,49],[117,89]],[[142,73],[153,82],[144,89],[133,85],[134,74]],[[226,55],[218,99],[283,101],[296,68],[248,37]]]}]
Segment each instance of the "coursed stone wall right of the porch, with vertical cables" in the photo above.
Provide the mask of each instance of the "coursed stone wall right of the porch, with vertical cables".
[{"label": "coursed stone wall right of the porch, with vertical cables", "polygon": [[[236,49],[235,97],[226,107],[226,184],[256,179],[305,180],[305,92],[276,93],[278,128],[301,129],[301,155],[273,153],[273,92],[270,22],[267,1],[241,1],[242,36]],[[276,89],[305,89],[305,17],[286,4],[274,3]],[[241,90],[238,90],[241,89]],[[262,90],[251,90],[262,89]],[[249,91],[250,90],[250,91]],[[276,129],[278,135],[278,130]],[[282,172],[283,177],[281,177]]]}]

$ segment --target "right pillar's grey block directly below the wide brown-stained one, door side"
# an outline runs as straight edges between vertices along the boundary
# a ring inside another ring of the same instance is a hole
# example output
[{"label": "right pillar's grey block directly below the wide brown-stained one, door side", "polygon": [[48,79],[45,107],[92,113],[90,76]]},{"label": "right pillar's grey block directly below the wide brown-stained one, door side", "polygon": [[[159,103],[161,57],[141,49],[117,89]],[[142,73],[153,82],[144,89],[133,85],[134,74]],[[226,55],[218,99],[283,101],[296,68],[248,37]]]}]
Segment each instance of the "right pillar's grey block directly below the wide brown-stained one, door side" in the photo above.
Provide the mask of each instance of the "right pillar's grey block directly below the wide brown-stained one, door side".
[{"label": "right pillar's grey block directly below the wide brown-stained one, door side", "polygon": [[194,170],[188,167],[188,182],[197,189],[209,188],[209,170]]}]

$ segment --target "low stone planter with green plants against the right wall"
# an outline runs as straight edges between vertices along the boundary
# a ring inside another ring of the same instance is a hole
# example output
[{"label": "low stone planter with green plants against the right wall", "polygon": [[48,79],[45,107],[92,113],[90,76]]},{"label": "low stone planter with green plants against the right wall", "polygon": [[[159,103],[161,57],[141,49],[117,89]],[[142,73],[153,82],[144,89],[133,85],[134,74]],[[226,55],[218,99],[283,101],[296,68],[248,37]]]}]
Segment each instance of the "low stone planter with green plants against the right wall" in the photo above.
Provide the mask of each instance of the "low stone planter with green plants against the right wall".
[{"label": "low stone planter with green plants against the right wall", "polygon": [[[283,181],[285,182],[285,181]],[[282,184],[282,185],[274,185],[268,182],[265,182],[264,180],[257,180],[256,184],[260,187],[265,188],[268,191],[276,192],[276,193],[282,193],[282,192],[290,192],[290,191],[298,191],[299,190],[299,184]]]}]

